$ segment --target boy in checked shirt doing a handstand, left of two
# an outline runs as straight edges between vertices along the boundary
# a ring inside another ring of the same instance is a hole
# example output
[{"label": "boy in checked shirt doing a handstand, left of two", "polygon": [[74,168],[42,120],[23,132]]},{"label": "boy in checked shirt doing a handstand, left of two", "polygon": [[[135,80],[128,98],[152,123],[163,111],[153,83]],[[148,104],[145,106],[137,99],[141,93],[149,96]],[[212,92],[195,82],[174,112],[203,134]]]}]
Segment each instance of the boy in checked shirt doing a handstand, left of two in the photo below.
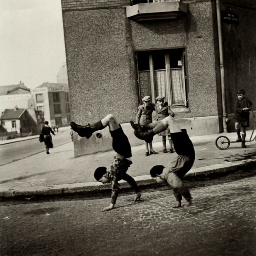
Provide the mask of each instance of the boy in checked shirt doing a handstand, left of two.
[{"label": "boy in checked shirt doing a handstand, left of two", "polygon": [[89,139],[93,132],[109,127],[109,132],[112,137],[112,147],[116,151],[116,156],[114,161],[110,164],[108,168],[104,166],[98,167],[94,172],[94,178],[102,183],[111,184],[111,203],[108,207],[105,207],[103,211],[108,211],[114,208],[116,204],[116,199],[118,196],[118,181],[125,180],[130,186],[135,190],[136,200],[140,200],[140,190],[137,186],[136,181],[128,175],[126,172],[130,165],[132,164],[132,149],[127,136],[121,125],[117,122],[116,117],[109,114],[102,118],[100,121],[93,124],[88,124],[85,126],[76,124],[74,122],[70,123],[71,128],[78,133],[80,137],[86,137]]}]

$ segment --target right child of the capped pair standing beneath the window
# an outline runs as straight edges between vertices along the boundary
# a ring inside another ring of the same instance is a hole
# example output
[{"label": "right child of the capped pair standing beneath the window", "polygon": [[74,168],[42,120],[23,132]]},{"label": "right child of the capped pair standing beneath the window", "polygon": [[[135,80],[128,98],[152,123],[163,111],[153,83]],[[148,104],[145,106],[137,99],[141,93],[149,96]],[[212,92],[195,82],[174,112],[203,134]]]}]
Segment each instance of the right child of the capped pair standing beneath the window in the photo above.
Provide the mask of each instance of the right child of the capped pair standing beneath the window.
[{"label": "right child of the capped pair standing beneath the window", "polygon": [[[167,102],[164,102],[165,97],[162,95],[159,95],[156,97],[156,114],[157,114],[157,121],[164,119],[164,117],[172,116],[174,117],[174,113],[172,112],[170,106],[168,106]],[[157,135],[162,136],[162,142],[163,142],[163,152],[167,153],[166,149],[166,135],[168,135],[169,144],[170,144],[170,153],[173,153],[172,148],[172,138],[169,128],[167,128],[165,131],[158,133]]]}]

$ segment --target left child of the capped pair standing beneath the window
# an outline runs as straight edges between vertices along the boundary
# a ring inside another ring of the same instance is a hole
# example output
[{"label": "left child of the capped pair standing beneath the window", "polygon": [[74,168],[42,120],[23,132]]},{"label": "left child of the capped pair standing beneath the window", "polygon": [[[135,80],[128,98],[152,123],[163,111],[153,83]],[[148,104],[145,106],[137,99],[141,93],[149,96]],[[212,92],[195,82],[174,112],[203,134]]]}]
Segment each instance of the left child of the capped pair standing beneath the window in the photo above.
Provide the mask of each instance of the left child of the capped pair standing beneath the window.
[{"label": "left child of the capped pair standing beneath the window", "polygon": [[[143,104],[139,106],[138,113],[136,115],[136,123],[137,124],[150,124],[152,123],[152,112],[155,110],[155,105],[150,102],[150,96],[145,96],[142,99]],[[148,144],[149,149],[148,150]],[[149,156],[152,154],[158,154],[153,150],[152,141],[150,143],[145,142],[146,153],[145,156]]]}]

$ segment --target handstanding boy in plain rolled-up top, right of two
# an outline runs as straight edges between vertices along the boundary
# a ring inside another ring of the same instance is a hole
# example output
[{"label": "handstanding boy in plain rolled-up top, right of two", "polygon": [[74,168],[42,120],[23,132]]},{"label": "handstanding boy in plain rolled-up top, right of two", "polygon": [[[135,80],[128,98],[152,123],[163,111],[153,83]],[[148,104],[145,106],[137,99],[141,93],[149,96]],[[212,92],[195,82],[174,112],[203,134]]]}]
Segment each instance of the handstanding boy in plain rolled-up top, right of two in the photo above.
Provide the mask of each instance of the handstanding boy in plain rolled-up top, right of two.
[{"label": "handstanding boy in plain rolled-up top, right of two", "polygon": [[191,169],[195,161],[194,146],[188,137],[186,129],[180,129],[177,121],[172,116],[167,116],[161,121],[152,124],[138,125],[132,121],[130,123],[135,130],[135,136],[147,142],[152,141],[155,134],[169,128],[178,157],[167,164],[166,167],[163,165],[153,166],[150,170],[150,175],[156,179],[157,183],[164,184],[167,182],[172,186],[177,201],[175,208],[181,207],[182,196],[186,199],[187,205],[191,205],[192,197],[189,189],[180,180]]}]

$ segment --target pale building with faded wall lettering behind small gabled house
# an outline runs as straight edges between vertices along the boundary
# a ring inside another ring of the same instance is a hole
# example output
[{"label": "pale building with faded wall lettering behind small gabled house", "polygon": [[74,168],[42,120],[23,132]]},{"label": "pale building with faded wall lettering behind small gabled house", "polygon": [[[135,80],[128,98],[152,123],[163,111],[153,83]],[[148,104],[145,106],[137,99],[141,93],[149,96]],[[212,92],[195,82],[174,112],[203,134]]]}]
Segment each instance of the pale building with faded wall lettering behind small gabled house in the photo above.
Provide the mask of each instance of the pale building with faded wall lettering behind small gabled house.
[{"label": "pale building with faded wall lettering behind small gabled house", "polygon": [[0,86],[0,115],[4,109],[12,109],[15,106],[19,108],[34,107],[30,89],[21,81],[20,84]]}]

